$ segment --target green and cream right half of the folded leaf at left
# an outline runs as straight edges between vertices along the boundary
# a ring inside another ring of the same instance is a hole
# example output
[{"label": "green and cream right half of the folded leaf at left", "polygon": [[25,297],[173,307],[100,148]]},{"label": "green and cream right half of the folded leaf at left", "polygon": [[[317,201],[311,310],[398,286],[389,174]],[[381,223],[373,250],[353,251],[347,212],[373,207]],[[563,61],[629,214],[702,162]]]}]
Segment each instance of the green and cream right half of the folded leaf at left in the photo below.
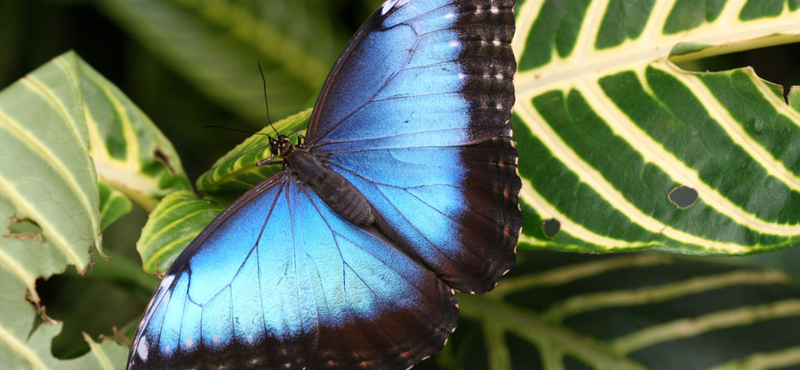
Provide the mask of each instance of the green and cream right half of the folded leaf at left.
[{"label": "green and cream right half of the folded leaf at left", "polygon": [[191,189],[175,148],[114,84],[80,61],[90,154],[97,174],[145,210]]}]

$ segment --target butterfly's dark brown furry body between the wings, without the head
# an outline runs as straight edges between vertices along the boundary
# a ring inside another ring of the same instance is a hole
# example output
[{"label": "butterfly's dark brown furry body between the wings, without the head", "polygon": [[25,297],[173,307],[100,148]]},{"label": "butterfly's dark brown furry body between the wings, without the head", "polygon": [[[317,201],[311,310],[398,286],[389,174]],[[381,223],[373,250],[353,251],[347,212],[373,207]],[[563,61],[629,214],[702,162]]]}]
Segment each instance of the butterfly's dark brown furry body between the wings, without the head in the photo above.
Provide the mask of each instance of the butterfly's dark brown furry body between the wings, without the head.
[{"label": "butterfly's dark brown furry body between the wings, without the head", "polygon": [[375,223],[372,205],[353,184],[302,146],[294,146],[288,140],[281,144],[286,168],[312,188],[325,204],[356,225]]}]

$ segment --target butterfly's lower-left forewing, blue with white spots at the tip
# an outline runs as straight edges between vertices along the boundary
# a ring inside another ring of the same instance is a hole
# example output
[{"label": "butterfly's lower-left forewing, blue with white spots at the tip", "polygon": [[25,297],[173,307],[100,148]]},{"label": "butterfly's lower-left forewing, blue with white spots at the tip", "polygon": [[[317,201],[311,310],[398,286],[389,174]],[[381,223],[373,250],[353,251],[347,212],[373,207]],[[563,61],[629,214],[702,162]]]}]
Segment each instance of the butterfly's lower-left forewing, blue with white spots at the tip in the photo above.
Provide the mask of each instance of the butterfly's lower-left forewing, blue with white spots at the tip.
[{"label": "butterfly's lower-left forewing, blue with white spots at the tip", "polygon": [[[302,368],[317,348],[308,274],[292,248],[279,173],[220,214],[162,280],[134,338],[129,368]],[[285,365],[289,364],[289,367]]]}]

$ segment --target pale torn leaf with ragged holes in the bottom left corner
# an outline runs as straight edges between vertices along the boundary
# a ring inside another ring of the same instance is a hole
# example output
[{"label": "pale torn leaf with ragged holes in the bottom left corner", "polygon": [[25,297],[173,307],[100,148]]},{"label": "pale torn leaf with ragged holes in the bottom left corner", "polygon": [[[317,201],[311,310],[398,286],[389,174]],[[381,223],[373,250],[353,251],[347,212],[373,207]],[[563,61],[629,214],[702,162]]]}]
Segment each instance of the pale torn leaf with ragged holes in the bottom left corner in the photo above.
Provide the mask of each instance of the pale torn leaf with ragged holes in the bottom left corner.
[{"label": "pale torn leaf with ragged holes in the bottom left corner", "polygon": [[[10,220],[19,211],[0,194],[0,219]],[[50,343],[61,331],[61,323],[45,322],[34,328],[37,312],[28,299],[39,304],[35,281],[63,272],[71,262],[59,246],[35,235],[14,235],[10,227],[0,237],[0,363],[3,369],[122,369],[127,348],[112,341],[97,344],[86,336],[92,348],[83,357],[62,361],[53,357]],[[85,253],[85,252],[84,252]],[[88,256],[88,254],[87,254]]]}]

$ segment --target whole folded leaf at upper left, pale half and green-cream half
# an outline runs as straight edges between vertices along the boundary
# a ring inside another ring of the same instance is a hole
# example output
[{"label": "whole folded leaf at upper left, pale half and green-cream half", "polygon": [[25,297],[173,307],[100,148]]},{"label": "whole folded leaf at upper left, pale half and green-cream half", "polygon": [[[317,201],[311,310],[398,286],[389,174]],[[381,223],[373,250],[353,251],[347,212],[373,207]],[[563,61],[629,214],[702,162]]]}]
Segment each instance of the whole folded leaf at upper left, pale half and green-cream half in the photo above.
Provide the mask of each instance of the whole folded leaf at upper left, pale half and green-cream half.
[{"label": "whole folded leaf at upper left, pale half and green-cream half", "polygon": [[[98,175],[145,209],[191,188],[169,141],[74,53],[0,92],[0,147],[0,194],[81,271],[93,243],[102,254],[101,230],[130,209],[99,192]],[[101,195],[114,203],[101,205]]]}]

